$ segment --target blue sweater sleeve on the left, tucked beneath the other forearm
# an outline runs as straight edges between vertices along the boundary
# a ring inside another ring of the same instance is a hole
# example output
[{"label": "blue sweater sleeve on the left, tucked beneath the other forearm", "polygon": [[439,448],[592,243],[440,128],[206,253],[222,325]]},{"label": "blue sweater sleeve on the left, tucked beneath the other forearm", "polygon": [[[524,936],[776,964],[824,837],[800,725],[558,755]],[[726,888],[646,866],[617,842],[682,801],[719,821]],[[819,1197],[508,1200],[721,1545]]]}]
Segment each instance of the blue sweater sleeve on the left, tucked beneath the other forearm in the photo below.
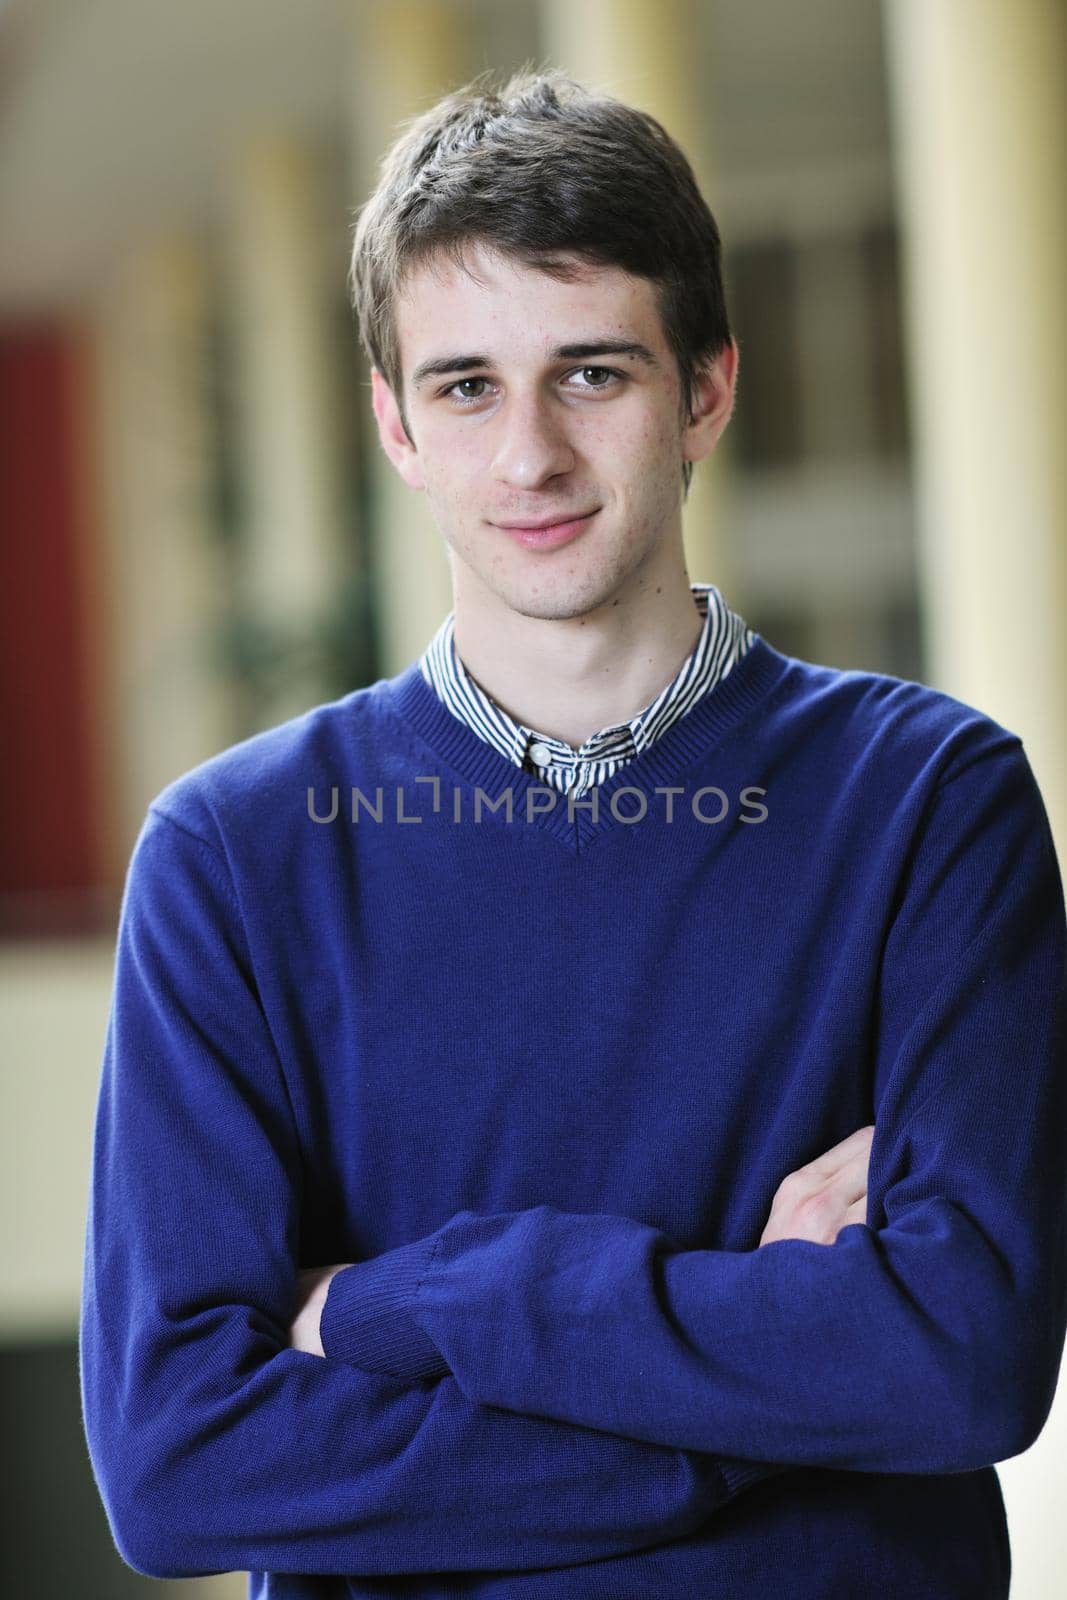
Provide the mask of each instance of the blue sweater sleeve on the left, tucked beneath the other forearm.
[{"label": "blue sweater sleeve on the left, tucked beneath the other forearm", "polygon": [[80,1318],[110,1530],[155,1578],[526,1570],[699,1528],[709,1456],[296,1350],[301,1154],[221,851],[150,811],[98,1099]]}]

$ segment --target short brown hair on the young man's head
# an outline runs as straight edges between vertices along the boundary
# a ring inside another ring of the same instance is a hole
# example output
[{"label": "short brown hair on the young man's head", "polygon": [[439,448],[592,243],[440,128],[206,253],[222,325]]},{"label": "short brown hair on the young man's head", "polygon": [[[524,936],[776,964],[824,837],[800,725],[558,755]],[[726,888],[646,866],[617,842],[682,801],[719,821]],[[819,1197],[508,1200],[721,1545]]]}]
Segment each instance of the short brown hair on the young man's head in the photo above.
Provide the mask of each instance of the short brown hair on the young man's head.
[{"label": "short brown hair on the young man's head", "polygon": [[[475,240],[563,280],[566,258],[649,278],[693,418],[696,373],[731,333],[718,227],[662,123],[558,69],[523,67],[499,88],[482,74],[406,125],[360,210],[349,274],[405,430],[395,296],[438,251],[462,267]],[[691,475],[686,461],[686,491]]]}]

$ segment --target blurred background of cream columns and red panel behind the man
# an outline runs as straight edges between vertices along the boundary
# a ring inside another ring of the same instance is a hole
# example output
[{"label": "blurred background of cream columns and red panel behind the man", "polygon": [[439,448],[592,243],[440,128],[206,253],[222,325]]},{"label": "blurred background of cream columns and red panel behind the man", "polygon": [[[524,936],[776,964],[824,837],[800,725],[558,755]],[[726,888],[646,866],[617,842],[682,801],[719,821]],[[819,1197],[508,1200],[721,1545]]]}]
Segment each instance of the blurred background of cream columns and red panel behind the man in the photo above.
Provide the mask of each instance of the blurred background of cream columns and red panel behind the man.
[{"label": "blurred background of cream columns and red panel behind the man", "polygon": [[[451,606],[346,293],[398,123],[528,62],[665,123],[741,344],[691,578],[779,650],[1022,734],[1064,861],[1065,34],[1062,0],[0,0],[5,1595],[152,1584],[110,1542],[75,1342],[146,806]],[[1016,1600],[1067,1592],[1065,1414],[1001,1469]]]}]

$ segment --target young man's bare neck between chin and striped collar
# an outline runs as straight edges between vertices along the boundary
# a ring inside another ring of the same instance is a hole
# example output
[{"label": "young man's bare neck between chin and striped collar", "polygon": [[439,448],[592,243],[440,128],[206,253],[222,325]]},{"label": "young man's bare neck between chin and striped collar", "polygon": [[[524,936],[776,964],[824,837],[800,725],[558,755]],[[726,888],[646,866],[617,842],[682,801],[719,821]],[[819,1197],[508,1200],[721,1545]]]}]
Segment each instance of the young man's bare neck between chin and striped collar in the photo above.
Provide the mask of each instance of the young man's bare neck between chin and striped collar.
[{"label": "young man's bare neck between chin and striped collar", "polygon": [[558,618],[464,605],[456,587],[456,651],[509,717],[579,749],[629,722],[670,683],[701,637],[702,618],[678,565],[592,610]]}]

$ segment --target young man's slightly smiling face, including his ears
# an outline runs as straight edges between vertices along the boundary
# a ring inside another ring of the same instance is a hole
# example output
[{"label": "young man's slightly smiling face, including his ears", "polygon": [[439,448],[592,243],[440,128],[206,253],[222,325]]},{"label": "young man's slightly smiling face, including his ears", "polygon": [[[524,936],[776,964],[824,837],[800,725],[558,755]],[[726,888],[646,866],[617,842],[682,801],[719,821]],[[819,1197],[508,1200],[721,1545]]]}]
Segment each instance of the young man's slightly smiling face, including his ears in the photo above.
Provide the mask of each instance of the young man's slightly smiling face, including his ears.
[{"label": "young man's slightly smiling face, including his ears", "polygon": [[[382,445],[426,490],[456,606],[574,618],[685,570],[681,461],[733,405],[731,349],[683,421],[653,285],[584,266],[560,282],[472,245],[474,277],[437,256],[397,304],[403,403],[374,374]],[[710,414],[707,410],[710,406]],[[518,523],[573,523],[523,541]]]}]

